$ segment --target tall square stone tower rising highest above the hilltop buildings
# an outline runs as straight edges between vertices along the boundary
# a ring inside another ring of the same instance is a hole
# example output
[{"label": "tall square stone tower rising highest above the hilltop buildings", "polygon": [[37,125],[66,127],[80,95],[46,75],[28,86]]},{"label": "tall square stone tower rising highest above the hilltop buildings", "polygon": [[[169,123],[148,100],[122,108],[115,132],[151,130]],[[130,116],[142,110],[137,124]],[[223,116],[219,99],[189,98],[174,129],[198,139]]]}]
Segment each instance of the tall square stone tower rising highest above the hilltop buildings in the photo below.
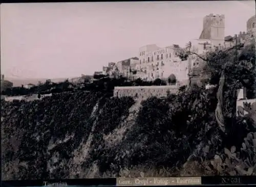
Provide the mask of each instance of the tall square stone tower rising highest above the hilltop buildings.
[{"label": "tall square stone tower rising highest above the hilltop buildings", "polygon": [[209,14],[204,17],[203,31],[199,39],[209,39],[213,45],[223,45],[225,38],[225,16]]}]

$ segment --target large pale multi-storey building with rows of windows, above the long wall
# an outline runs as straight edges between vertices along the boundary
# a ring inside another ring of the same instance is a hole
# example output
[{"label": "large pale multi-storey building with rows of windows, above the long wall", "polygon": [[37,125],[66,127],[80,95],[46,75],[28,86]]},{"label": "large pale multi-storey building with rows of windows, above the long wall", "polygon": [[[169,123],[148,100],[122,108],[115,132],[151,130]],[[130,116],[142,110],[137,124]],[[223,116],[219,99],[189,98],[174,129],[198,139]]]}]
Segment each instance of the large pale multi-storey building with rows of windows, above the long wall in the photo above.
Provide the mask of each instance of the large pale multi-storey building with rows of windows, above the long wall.
[{"label": "large pale multi-storey building with rows of windows, above the long wall", "polygon": [[147,81],[156,78],[166,79],[174,74],[177,80],[184,83],[187,81],[188,64],[178,57],[181,48],[179,45],[158,47],[155,44],[145,45],[139,49],[140,70],[144,72]]}]

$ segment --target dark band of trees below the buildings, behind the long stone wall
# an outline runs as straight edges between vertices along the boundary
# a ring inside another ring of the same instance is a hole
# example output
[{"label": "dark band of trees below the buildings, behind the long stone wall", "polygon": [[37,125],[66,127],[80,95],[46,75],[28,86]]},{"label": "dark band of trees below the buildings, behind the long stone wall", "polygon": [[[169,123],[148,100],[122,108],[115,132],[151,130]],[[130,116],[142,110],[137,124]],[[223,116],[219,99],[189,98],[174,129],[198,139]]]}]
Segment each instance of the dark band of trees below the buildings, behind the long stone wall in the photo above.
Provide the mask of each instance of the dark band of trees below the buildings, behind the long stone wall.
[{"label": "dark band of trees below the buildings, behind the long stone wall", "polygon": [[[38,83],[29,89],[22,87],[8,87],[1,91],[2,95],[7,96],[19,96],[19,95],[30,95],[30,94],[56,94],[61,92],[76,92],[76,91],[100,91],[100,92],[108,92],[110,94],[113,93],[115,86],[161,86],[166,85],[167,80],[161,80],[157,78],[153,82],[146,82],[142,79],[138,78],[134,81],[129,81],[125,77],[118,78],[110,78],[106,75],[94,75],[90,81],[90,79],[84,79],[83,83],[74,84],[68,81],[68,79],[61,83],[53,83],[50,79],[48,79],[45,83]],[[169,79],[168,81],[172,81]]]}]

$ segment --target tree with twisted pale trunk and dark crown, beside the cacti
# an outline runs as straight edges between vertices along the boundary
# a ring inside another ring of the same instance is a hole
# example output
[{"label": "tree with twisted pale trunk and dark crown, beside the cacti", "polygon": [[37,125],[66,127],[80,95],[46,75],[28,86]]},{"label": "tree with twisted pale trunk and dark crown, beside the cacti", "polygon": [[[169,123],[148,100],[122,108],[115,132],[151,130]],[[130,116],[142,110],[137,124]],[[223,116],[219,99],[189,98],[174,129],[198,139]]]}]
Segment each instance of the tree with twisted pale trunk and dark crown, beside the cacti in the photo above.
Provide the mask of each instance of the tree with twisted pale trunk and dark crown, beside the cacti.
[{"label": "tree with twisted pale trunk and dark crown, beside the cacti", "polygon": [[[227,128],[225,116],[234,118],[236,116],[236,107],[233,106],[228,111],[231,114],[224,115],[223,97],[229,97],[230,99],[229,101],[225,99],[225,102],[235,103],[236,90],[238,88],[243,86],[252,90],[255,87],[254,84],[245,82],[245,79],[255,80],[256,77],[255,45],[251,44],[244,47],[243,44],[239,44],[224,50],[208,52],[205,54],[205,57],[191,51],[183,51],[183,54],[181,54],[182,57],[188,57],[190,55],[196,55],[199,59],[206,62],[203,67],[204,73],[210,74],[210,81],[219,86],[217,92],[218,104],[215,115],[220,129],[225,134],[229,134],[233,124]],[[254,82],[252,81],[252,83]]]}]

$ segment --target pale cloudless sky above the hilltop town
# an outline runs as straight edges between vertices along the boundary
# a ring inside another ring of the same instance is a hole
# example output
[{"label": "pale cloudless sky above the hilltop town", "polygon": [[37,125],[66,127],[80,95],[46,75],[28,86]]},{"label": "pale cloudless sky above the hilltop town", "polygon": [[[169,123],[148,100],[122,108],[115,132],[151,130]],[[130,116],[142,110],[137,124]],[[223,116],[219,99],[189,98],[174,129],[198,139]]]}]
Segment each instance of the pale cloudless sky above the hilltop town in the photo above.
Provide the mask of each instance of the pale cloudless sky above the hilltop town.
[{"label": "pale cloudless sky above the hilltop town", "polygon": [[199,38],[203,17],[225,15],[225,35],[246,31],[255,1],[1,4],[1,74],[62,78],[138,57],[139,47]]}]

